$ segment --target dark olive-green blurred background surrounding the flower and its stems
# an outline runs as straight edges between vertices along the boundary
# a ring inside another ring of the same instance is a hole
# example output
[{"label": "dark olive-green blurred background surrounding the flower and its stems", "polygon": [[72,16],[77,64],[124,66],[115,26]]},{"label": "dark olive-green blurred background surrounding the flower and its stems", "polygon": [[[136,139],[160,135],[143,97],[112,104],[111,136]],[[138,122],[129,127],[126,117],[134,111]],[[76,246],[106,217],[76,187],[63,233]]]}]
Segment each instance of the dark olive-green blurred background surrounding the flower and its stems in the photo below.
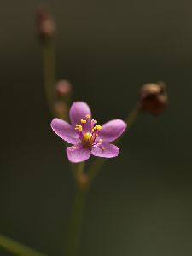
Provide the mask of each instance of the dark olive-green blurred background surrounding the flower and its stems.
[{"label": "dark olive-green blurred background surrounding the flower and its stems", "polygon": [[[80,256],[192,255],[191,1],[47,1],[57,78],[102,124],[124,119],[142,84],[164,80],[170,104],[137,119],[90,190]],[[73,201],[65,145],[50,130],[39,1],[3,1],[0,233],[60,256]],[[11,255],[0,248],[0,255]]]}]

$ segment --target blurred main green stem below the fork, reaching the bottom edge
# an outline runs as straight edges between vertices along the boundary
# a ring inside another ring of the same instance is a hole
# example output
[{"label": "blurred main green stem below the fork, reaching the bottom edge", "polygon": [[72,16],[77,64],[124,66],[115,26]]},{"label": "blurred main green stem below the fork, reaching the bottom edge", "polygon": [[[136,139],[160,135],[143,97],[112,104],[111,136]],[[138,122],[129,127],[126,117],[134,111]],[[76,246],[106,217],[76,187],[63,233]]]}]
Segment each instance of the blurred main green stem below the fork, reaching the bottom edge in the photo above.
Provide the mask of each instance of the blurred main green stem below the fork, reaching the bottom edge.
[{"label": "blurred main green stem below the fork, reaching the bottom edge", "polygon": [[76,256],[79,248],[80,230],[84,217],[84,206],[86,202],[86,189],[76,188],[76,195],[74,198],[73,211],[71,221],[69,224],[69,231],[67,236],[67,248],[65,256]]}]

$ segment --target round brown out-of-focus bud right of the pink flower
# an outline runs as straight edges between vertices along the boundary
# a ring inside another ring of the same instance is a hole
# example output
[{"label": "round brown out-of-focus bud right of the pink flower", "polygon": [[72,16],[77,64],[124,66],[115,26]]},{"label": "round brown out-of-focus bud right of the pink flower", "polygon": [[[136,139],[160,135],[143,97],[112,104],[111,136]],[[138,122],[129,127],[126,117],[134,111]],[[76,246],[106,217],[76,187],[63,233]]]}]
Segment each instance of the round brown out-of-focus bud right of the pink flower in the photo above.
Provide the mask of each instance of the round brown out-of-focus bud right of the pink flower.
[{"label": "round brown out-of-focus bud right of the pink flower", "polygon": [[163,82],[144,84],[140,90],[138,108],[160,115],[167,107],[166,84]]}]

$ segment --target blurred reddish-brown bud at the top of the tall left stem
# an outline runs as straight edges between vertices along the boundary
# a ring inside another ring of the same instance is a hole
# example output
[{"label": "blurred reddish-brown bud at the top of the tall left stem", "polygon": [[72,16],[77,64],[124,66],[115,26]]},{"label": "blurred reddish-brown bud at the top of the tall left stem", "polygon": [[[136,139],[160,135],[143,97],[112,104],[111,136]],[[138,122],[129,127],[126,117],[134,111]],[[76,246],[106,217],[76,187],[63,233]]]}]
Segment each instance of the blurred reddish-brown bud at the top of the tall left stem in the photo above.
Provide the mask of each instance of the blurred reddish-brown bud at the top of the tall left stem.
[{"label": "blurred reddish-brown bud at the top of the tall left stem", "polygon": [[38,37],[42,42],[55,36],[55,22],[45,6],[40,7],[37,11],[37,30]]}]

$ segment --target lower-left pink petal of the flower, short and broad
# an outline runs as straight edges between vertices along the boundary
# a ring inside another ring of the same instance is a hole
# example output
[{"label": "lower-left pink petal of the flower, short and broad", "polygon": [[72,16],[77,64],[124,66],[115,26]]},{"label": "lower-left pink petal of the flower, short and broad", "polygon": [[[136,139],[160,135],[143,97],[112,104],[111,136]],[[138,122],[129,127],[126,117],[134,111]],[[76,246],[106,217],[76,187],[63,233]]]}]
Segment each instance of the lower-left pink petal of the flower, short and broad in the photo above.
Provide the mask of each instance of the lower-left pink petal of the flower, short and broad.
[{"label": "lower-left pink petal of the flower, short and broad", "polygon": [[[74,147],[74,146],[73,146]],[[67,157],[68,160],[72,163],[79,163],[90,158],[90,149],[89,148],[67,148]]]}]

